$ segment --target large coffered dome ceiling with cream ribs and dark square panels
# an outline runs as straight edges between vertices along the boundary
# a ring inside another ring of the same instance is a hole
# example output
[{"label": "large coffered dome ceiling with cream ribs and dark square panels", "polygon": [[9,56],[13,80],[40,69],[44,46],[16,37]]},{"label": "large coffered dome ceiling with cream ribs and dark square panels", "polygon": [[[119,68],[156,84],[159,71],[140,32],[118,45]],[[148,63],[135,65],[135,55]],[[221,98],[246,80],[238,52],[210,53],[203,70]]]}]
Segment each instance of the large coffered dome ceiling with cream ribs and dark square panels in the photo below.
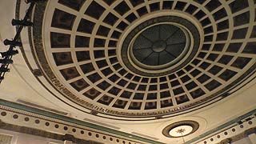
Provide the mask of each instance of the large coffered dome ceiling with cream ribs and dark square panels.
[{"label": "large coffered dome ceiling with cream ribs and dark square panels", "polygon": [[102,115],[172,116],[216,102],[255,72],[253,0],[39,2],[38,66]]}]

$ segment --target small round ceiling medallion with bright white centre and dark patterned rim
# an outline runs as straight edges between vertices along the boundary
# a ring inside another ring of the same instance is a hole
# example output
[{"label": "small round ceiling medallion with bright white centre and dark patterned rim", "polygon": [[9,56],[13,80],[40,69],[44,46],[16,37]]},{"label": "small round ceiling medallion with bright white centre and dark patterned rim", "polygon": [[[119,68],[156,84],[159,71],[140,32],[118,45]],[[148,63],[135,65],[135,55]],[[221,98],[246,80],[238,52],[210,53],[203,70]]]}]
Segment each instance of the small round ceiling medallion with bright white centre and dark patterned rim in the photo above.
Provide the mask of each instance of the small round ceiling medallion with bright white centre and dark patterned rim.
[{"label": "small round ceiling medallion with bright white centre and dark patterned rim", "polygon": [[174,122],[162,130],[162,134],[168,138],[180,138],[193,134],[198,130],[199,124],[195,121]]}]

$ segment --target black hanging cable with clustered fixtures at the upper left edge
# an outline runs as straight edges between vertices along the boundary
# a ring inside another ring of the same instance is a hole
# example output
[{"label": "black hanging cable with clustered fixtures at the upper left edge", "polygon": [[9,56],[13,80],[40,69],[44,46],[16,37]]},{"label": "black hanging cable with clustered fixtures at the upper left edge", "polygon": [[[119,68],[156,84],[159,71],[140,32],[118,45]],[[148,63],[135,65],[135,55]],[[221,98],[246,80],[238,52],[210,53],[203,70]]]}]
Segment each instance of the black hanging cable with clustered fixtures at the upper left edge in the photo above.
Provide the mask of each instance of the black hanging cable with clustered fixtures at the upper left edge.
[{"label": "black hanging cable with clustered fixtures at the upper left edge", "polygon": [[[18,54],[18,50],[14,50],[16,46],[22,46],[22,42],[18,42],[18,38],[22,32],[24,26],[33,26],[33,22],[30,22],[28,19],[30,14],[32,13],[35,2],[40,0],[25,0],[26,3],[30,3],[30,7],[26,10],[26,14],[22,20],[13,19],[11,24],[13,26],[18,26],[18,30],[12,40],[5,39],[4,45],[10,46],[9,49],[5,52],[0,52],[0,63],[2,64],[0,67],[0,83],[4,79],[6,72],[9,72],[8,68],[10,64],[13,63],[12,57],[15,54]],[[41,0],[42,1],[42,0]]]}]

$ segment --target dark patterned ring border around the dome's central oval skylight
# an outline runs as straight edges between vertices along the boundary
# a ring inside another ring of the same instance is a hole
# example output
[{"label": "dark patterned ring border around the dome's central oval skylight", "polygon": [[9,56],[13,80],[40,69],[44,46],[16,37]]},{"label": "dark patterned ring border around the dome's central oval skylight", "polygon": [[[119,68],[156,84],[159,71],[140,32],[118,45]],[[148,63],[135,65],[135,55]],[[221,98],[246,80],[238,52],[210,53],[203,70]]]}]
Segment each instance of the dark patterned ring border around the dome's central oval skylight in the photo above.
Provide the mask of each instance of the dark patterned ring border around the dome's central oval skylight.
[{"label": "dark patterned ring border around the dome's central oval skylight", "polygon": [[[182,62],[178,67],[175,67],[172,70],[167,70],[165,72],[158,73],[158,74],[146,73],[146,72],[143,72],[142,70],[136,69],[134,66],[132,66],[130,64],[129,59],[128,59],[130,42],[132,41],[132,39],[134,38],[135,35],[137,35],[141,30],[143,30],[147,26],[154,25],[157,23],[162,23],[162,22],[177,23],[179,25],[186,27],[190,31],[190,33],[192,34],[193,39],[194,39],[194,46],[193,46],[193,50],[191,51],[190,56],[184,62]],[[200,34],[199,34],[197,27],[194,26],[193,23],[189,22],[185,18],[181,18],[178,16],[162,16],[162,17],[157,17],[157,18],[151,18],[151,19],[147,20],[146,22],[142,22],[139,26],[136,26],[134,28],[134,30],[132,30],[130,32],[130,34],[128,34],[126,36],[126,38],[122,44],[121,57],[122,57],[122,62],[124,62],[126,67],[129,70],[133,71],[134,73],[140,74],[143,76],[147,76],[147,77],[158,77],[158,76],[170,74],[176,70],[181,69],[183,66],[186,66],[186,64],[194,58],[195,54],[197,54],[199,45],[200,45]]]}]

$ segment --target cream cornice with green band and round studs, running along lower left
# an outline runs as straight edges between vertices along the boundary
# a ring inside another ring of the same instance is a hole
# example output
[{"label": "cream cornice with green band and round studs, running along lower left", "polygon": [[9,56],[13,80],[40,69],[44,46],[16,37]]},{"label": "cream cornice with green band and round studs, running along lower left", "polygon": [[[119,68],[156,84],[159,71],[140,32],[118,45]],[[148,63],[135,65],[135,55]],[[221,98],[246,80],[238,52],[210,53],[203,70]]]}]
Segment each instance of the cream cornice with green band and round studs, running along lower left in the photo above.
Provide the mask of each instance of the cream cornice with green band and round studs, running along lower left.
[{"label": "cream cornice with green band and round studs, running along lower left", "polygon": [[[14,116],[15,115],[15,116]],[[94,141],[98,138],[116,139],[126,143],[162,144],[147,138],[127,134],[104,126],[69,118],[49,111],[24,106],[15,102],[0,99],[0,119],[17,126],[28,126],[38,130],[50,130],[56,134],[74,134],[76,138],[88,138]],[[66,129],[66,130],[65,130]],[[82,132],[83,131],[83,132]],[[104,137],[105,136],[105,137]]]}]

